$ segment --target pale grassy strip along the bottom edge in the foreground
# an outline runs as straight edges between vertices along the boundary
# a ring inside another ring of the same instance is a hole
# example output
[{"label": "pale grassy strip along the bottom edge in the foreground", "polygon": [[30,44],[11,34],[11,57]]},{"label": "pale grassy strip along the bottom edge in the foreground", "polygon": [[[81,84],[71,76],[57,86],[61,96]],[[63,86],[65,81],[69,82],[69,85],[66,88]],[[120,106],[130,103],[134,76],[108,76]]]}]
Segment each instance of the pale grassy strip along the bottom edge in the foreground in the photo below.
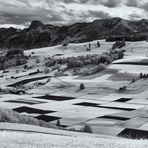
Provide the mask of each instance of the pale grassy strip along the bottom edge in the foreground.
[{"label": "pale grassy strip along the bottom edge in the foreground", "polygon": [[1,148],[146,148],[147,140],[0,132]]}]

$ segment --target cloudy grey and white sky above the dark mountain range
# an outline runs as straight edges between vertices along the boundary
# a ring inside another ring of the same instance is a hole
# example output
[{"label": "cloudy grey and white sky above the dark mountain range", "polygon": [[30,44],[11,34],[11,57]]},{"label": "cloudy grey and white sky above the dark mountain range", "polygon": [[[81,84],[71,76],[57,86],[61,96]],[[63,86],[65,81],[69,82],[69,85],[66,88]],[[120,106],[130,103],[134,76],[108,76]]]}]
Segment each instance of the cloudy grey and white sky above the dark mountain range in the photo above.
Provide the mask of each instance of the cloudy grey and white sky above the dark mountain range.
[{"label": "cloudy grey and white sky above the dark mountain range", "polygon": [[33,20],[69,25],[121,17],[148,19],[148,0],[0,0],[0,27],[28,27]]}]

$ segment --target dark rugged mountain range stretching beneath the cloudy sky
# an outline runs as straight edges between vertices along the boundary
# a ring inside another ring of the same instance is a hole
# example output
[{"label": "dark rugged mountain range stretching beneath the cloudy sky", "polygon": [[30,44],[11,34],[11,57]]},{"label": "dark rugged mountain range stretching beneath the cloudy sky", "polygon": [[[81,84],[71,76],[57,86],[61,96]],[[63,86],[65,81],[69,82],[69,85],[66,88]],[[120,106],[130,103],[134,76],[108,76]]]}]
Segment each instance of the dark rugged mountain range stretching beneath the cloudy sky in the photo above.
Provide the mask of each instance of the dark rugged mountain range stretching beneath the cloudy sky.
[{"label": "dark rugged mountain range stretching beneath the cloudy sky", "polygon": [[[148,20],[129,21],[121,18],[98,19],[70,26],[45,25],[33,21],[23,30],[0,28],[0,48],[40,48],[65,41],[80,43],[112,36],[147,36]],[[142,38],[145,39],[145,38]]]}]

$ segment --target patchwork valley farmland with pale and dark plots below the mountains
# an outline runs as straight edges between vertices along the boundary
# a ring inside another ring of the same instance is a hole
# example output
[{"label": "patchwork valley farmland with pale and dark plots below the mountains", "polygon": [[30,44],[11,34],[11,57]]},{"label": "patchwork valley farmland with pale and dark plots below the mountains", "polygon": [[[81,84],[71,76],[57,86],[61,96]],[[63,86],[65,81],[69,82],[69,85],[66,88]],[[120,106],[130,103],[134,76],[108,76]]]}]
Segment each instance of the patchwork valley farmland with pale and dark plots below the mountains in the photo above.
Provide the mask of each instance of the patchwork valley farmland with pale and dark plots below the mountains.
[{"label": "patchwork valley farmland with pale and dark plots below the mountains", "polygon": [[[79,131],[89,124],[95,134],[148,138],[148,79],[140,78],[140,73],[148,73],[148,42],[127,42],[124,59],[92,75],[72,75],[72,70],[67,70],[65,76],[53,77],[57,70],[51,71],[52,67],[50,73],[44,72],[44,58],[101,54],[108,52],[113,42],[101,40],[100,44],[98,48],[96,41],[91,42],[91,51],[86,51],[88,43],[25,51],[31,55],[27,65],[32,68],[0,71],[0,87],[24,85],[27,94],[1,94],[0,106],[54,124],[59,119],[66,129]],[[83,90],[79,90],[81,83],[85,85]],[[123,86],[126,90],[119,92]]]}]

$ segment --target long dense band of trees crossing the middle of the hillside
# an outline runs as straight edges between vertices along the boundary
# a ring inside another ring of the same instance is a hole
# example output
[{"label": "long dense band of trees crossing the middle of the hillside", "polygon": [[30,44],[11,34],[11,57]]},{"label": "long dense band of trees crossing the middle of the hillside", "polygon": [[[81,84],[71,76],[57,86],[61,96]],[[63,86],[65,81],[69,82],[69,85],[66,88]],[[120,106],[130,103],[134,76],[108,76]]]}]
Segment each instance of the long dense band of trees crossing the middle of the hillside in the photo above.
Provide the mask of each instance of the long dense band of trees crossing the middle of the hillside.
[{"label": "long dense band of trees crossing the middle of the hillside", "polygon": [[63,57],[63,58],[48,58],[45,61],[45,66],[55,66],[58,64],[67,64],[67,68],[84,67],[85,65],[101,63],[108,65],[114,60],[122,59],[125,50],[111,50],[110,52],[99,54],[88,54],[77,57]]}]

